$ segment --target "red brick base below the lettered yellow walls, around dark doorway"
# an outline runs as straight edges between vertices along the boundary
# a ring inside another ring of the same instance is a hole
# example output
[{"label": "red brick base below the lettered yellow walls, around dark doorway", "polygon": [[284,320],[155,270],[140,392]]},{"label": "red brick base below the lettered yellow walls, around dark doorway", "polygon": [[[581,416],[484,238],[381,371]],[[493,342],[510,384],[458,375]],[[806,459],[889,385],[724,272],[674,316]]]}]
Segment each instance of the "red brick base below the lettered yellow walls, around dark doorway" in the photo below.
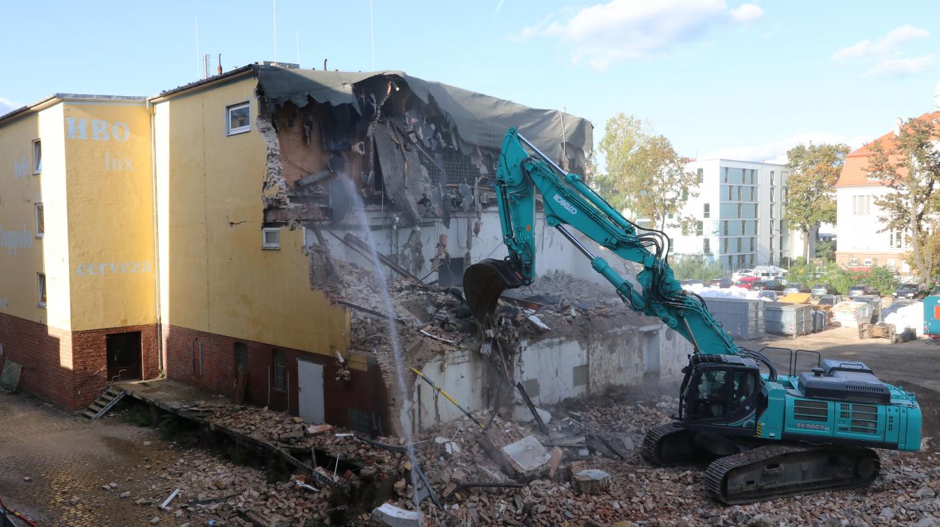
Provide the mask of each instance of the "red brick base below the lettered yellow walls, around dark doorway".
[{"label": "red brick base below the lettered yellow walls, around dark doorway", "polygon": [[20,389],[70,410],[85,408],[108,382],[106,336],[141,333],[143,379],[157,376],[156,325],[69,332],[0,313],[3,356],[23,364]]}]

